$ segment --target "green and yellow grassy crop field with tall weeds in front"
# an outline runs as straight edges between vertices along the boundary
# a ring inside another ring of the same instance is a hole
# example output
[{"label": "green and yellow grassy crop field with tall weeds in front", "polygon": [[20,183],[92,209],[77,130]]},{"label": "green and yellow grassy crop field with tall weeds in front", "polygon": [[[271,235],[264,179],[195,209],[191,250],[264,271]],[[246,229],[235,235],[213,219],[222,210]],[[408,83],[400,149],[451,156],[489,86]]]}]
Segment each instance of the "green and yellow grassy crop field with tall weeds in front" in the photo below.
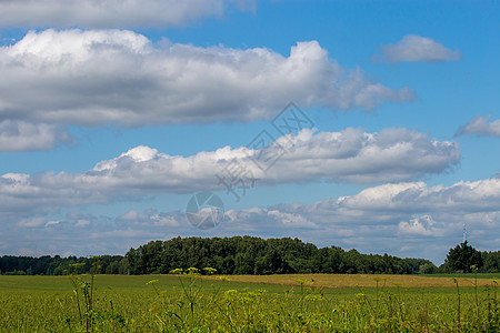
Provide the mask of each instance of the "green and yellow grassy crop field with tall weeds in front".
[{"label": "green and yellow grassy crop field with tall weeds in front", "polygon": [[179,273],[0,275],[0,332],[499,331],[491,274]]}]

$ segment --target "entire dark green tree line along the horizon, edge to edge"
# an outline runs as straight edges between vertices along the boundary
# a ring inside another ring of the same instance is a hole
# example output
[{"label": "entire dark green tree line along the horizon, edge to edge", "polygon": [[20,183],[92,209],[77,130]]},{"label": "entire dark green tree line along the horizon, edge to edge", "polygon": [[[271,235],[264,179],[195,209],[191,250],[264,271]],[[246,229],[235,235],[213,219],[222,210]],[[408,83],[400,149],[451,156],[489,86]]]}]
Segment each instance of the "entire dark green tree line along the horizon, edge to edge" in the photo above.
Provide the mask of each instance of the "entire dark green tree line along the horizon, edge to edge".
[{"label": "entire dark green tree line along the horizon, edge to edge", "polygon": [[[76,263],[83,263],[78,265]],[[337,246],[320,248],[299,239],[176,238],[151,241],[130,249],[124,256],[91,258],[12,256],[0,258],[0,274],[84,273],[92,265],[102,274],[164,274],[174,269],[214,268],[220,274],[287,273],[368,273],[432,274],[468,272],[474,264],[479,272],[498,272],[500,251],[479,252],[467,242],[450,249],[446,262],[437,268],[424,259],[401,259],[388,254],[361,254]]]}]

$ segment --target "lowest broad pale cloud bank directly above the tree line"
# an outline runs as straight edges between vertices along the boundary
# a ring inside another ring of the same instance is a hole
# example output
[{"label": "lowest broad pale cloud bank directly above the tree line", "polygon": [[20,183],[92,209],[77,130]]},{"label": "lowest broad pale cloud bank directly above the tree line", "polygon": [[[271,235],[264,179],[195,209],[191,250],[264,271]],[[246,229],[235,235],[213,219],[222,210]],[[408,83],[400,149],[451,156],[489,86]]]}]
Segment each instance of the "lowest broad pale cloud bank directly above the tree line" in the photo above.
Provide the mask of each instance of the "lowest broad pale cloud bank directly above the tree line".
[{"label": "lowest broad pale cloud bank directly above the tree line", "polygon": [[[500,180],[457,182],[450,186],[428,186],[423,182],[382,184],[311,204],[229,210],[217,228],[202,231],[187,221],[184,212],[156,209],[132,209],[118,218],[72,212],[53,224],[44,223],[47,220],[40,215],[26,218],[13,229],[3,222],[0,249],[18,253],[30,244],[31,249],[32,244],[41,249],[56,244],[51,253],[69,250],[73,254],[109,254],[178,235],[252,234],[297,236],[319,246],[427,258],[439,264],[448,250],[461,242],[464,222],[470,243],[481,251],[498,250]],[[81,238],[82,234],[88,236]],[[19,241],[7,242],[12,238]]]}]

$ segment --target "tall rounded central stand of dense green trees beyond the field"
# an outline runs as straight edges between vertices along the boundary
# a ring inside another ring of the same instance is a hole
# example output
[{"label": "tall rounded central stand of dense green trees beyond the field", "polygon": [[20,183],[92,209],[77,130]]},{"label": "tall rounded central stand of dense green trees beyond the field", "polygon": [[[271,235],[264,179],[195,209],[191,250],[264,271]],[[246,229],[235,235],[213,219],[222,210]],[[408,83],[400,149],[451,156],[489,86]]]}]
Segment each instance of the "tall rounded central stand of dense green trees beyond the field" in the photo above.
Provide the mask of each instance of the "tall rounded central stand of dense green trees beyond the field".
[{"label": "tall rounded central stand of dense green trees beyond the field", "polygon": [[361,254],[337,246],[318,249],[299,239],[176,238],[130,249],[131,274],[169,273],[177,268],[211,266],[221,274],[367,273],[412,274],[433,272],[423,259]]}]

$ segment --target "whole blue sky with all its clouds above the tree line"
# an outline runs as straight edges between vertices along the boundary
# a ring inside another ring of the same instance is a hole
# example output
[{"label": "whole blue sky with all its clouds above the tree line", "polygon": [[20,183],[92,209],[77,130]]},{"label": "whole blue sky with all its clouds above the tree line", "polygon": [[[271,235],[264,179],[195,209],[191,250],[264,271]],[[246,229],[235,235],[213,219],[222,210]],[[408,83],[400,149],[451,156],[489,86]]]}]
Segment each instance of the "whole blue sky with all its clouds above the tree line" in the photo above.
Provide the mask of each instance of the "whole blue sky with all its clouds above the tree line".
[{"label": "whole blue sky with all its clouds above the tree line", "polygon": [[[0,1],[0,255],[500,244],[494,1]],[[189,223],[196,193],[224,215]]]}]

